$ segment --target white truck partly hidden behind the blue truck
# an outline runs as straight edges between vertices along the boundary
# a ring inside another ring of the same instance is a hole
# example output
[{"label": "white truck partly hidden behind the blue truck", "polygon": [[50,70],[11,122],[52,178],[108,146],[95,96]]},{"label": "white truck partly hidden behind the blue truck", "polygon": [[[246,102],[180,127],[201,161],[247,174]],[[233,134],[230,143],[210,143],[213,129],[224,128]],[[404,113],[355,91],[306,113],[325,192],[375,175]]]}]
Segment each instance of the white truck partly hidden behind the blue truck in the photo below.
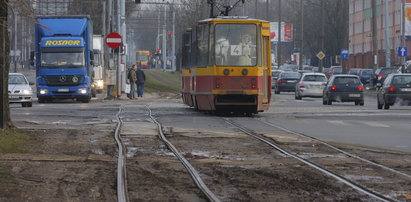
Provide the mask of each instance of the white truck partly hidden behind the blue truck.
[{"label": "white truck partly hidden behind the blue truck", "polygon": [[104,89],[104,37],[102,35],[93,35],[93,52],[94,52],[94,67],[93,67],[93,84],[92,95],[102,93]]}]

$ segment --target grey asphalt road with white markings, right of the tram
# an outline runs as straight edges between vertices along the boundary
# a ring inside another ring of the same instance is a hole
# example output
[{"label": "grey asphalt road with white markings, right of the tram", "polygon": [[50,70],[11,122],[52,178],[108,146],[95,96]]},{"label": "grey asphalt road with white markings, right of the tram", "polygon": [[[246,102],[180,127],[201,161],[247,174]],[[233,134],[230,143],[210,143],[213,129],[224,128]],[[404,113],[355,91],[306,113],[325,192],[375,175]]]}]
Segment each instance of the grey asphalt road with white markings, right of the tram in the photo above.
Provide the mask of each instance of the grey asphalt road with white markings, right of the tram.
[{"label": "grey asphalt road with white markings, right of the tram", "polygon": [[295,100],[293,93],[273,94],[271,109],[259,117],[325,141],[411,152],[411,106],[378,110],[374,96],[365,97],[365,106],[328,106],[321,98]]}]

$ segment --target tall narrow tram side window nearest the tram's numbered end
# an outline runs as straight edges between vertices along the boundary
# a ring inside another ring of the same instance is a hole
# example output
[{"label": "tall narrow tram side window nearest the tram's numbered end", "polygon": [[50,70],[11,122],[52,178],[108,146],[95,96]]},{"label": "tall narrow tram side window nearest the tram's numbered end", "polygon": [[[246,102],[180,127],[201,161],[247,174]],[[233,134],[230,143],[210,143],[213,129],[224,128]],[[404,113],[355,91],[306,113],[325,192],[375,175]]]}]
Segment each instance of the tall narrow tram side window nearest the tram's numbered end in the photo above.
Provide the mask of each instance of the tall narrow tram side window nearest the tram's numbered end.
[{"label": "tall narrow tram side window nearest the tram's numbered end", "polygon": [[197,26],[197,65],[205,67],[208,64],[208,24]]}]

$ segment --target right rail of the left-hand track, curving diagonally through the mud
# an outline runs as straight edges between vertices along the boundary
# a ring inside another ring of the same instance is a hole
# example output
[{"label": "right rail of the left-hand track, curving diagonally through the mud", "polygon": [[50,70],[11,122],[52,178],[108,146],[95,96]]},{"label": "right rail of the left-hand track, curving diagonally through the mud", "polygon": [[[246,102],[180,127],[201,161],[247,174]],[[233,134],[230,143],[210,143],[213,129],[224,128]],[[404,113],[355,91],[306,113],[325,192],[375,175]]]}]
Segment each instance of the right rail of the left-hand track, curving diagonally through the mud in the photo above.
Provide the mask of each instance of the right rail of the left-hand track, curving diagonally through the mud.
[{"label": "right rail of the left-hand track, curving diagonally through the mud", "polygon": [[206,197],[212,201],[212,202],[220,202],[220,199],[207,187],[207,185],[203,182],[201,179],[200,175],[198,172],[195,170],[195,168],[187,161],[186,158],[184,158],[183,155],[177,150],[174,145],[168,141],[168,139],[165,137],[162,129],[161,123],[157,121],[157,119],[152,115],[152,111],[150,109],[149,105],[146,105],[146,109],[148,111],[148,116],[151,118],[151,120],[157,124],[158,127],[158,136],[160,139],[167,145],[167,147],[176,155],[176,157],[180,160],[180,162],[184,165],[184,167],[187,169],[187,171],[190,173],[192,179],[196,183],[197,187],[206,195]]}]

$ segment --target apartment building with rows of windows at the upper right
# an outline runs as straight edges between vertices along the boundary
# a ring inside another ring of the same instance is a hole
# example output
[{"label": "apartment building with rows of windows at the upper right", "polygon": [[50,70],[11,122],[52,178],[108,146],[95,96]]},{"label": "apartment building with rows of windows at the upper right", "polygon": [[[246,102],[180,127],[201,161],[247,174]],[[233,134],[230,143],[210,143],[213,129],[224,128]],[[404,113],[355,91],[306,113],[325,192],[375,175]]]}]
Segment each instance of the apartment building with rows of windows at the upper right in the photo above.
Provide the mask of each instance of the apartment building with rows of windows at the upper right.
[{"label": "apartment building with rows of windows at the upper right", "polygon": [[[377,59],[373,58],[372,33],[372,1],[376,1],[376,48]],[[400,65],[401,59],[397,56],[397,48],[402,46],[402,5],[411,3],[411,0],[388,0],[388,27],[389,44],[391,48],[391,65]],[[349,67],[372,68],[374,62],[378,67],[385,63],[385,0],[349,0]],[[406,40],[411,47],[411,41]]]}]

